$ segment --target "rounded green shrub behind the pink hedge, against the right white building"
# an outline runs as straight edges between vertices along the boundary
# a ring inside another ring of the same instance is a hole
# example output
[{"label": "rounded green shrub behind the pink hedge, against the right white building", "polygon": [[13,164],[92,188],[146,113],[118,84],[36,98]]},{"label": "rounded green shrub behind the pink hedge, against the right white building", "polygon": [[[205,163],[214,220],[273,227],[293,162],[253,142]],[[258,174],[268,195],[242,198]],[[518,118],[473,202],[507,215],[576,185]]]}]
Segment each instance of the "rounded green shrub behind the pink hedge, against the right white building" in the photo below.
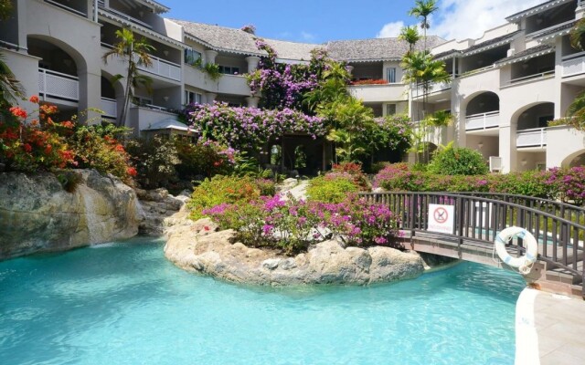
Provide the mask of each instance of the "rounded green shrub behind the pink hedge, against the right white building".
[{"label": "rounded green shrub behind the pink hedge, against the right white building", "polygon": [[482,175],[489,172],[489,166],[480,152],[448,145],[433,154],[428,172],[442,175]]}]

